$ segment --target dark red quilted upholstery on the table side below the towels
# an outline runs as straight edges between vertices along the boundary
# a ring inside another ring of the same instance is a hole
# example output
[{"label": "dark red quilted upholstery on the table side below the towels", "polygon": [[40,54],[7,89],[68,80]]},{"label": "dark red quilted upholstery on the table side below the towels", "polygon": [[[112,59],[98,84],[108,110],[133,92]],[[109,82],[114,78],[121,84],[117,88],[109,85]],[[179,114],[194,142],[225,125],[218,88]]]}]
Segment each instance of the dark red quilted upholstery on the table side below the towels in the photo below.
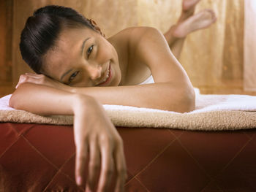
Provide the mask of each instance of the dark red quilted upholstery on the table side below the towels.
[{"label": "dark red quilted upholstery on the table side below the towels", "polygon": [[[256,191],[256,129],[118,128],[127,191]],[[0,123],[0,191],[83,191],[72,126]],[[110,189],[111,191],[111,189]]]}]

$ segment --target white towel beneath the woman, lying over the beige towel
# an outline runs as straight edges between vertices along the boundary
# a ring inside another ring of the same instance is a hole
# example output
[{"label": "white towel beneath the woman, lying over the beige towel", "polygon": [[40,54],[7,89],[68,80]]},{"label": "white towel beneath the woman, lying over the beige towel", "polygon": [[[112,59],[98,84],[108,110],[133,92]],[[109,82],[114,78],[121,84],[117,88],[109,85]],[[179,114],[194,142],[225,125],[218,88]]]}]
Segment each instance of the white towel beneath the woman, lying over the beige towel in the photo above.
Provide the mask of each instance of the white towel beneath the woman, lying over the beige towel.
[{"label": "white towel beneath the woman, lying over the beige towel", "polygon": [[[247,95],[205,95],[195,88],[195,110],[189,113],[211,111],[256,111],[256,96]],[[14,110],[9,106],[11,95],[0,99],[0,110]],[[138,112],[170,112],[143,107],[130,107],[123,105],[104,104],[105,110],[138,111]]]}]

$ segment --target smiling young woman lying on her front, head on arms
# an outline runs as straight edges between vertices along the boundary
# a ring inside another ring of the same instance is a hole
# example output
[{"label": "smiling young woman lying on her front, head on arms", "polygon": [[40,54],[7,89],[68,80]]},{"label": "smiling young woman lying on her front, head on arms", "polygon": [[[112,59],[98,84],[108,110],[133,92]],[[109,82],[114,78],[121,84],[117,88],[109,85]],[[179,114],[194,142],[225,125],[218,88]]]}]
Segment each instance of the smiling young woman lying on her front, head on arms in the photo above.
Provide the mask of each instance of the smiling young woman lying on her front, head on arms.
[{"label": "smiling young woman lying on her front, head on arms", "polygon": [[90,153],[87,190],[106,191],[117,172],[116,191],[124,191],[122,140],[100,104],[195,109],[192,83],[176,58],[187,34],[216,20],[208,9],[194,15],[198,1],[183,1],[181,17],[165,35],[133,27],[106,39],[93,20],[58,6],[37,9],[26,21],[20,52],[37,74],[20,76],[10,106],[39,115],[74,115],[78,185],[84,183]]}]

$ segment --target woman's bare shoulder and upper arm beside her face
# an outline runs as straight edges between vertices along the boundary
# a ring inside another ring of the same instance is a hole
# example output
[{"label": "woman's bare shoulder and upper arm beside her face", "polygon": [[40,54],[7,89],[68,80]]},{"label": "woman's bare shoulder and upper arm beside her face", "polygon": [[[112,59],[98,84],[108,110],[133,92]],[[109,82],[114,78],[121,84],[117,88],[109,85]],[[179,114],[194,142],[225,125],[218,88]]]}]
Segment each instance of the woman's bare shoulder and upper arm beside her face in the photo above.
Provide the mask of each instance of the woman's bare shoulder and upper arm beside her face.
[{"label": "woman's bare shoulder and upper arm beside her face", "polygon": [[175,85],[189,82],[187,73],[157,28],[127,28],[121,33],[124,33],[121,36],[128,39],[129,61],[136,66],[148,67],[155,82],[172,82]]}]

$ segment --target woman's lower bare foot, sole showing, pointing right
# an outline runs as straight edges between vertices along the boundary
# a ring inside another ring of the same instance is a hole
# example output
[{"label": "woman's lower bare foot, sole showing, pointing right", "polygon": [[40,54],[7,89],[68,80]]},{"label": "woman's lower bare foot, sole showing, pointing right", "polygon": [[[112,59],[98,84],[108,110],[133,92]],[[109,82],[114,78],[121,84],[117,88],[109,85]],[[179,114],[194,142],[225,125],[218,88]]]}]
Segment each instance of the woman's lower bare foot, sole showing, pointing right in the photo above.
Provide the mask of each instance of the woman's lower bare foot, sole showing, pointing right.
[{"label": "woman's lower bare foot, sole showing, pointing right", "polygon": [[184,22],[178,23],[176,25],[176,29],[173,30],[173,37],[186,37],[193,31],[211,26],[211,24],[215,23],[216,20],[217,18],[214,11],[211,9],[205,9],[202,12],[192,15],[187,20],[184,20]]}]

